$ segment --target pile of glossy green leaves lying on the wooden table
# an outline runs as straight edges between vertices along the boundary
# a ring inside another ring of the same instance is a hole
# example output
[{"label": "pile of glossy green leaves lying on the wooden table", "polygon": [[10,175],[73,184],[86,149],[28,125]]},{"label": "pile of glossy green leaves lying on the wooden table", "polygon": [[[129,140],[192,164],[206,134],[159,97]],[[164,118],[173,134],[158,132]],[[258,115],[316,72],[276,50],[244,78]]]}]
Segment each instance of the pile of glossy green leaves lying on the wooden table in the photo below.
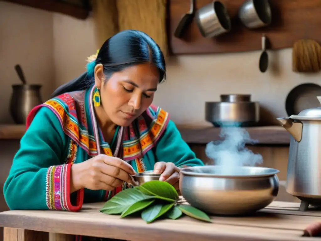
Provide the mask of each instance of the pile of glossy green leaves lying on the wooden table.
[{"label": "pile of glossy green leaves lying on the wooden table", "polygon": [[146,223],[160,217],[178,219],[182,214],[211,222],[206,213],[191,205],[181,204],[182,202],[175,188],[169,183],[150,181],[117,193],[104,204],[100,212],[120,214],[121,218],[140,214]]}]

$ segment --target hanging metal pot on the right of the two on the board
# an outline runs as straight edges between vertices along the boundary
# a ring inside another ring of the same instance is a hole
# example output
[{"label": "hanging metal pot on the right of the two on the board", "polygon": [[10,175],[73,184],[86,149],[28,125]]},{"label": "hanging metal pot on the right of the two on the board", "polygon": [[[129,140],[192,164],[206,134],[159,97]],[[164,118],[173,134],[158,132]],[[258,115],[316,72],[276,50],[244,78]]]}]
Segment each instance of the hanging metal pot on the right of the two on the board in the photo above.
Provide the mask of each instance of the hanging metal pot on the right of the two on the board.
[{"label": "hanging metal pot on the right of the two on the board", "polygon": [[248,0],[239,8],[239,18],[249,29],[269,25],[272,21],[271,7],[268,0]]}]

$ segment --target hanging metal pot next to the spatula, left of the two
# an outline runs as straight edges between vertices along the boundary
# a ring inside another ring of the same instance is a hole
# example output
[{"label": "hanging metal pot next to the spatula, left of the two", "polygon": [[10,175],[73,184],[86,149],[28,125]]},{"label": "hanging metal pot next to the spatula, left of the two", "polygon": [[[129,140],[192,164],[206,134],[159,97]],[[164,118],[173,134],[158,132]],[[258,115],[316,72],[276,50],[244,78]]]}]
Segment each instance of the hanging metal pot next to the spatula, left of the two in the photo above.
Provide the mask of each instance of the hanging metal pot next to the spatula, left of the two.
[{"label": "hanging metal pot next to the spatula, left of the two", "polygon": [[230,16],[220,1],[213,1],[198,9],[195,18],[203,37],[212,38],[231,30]]}]

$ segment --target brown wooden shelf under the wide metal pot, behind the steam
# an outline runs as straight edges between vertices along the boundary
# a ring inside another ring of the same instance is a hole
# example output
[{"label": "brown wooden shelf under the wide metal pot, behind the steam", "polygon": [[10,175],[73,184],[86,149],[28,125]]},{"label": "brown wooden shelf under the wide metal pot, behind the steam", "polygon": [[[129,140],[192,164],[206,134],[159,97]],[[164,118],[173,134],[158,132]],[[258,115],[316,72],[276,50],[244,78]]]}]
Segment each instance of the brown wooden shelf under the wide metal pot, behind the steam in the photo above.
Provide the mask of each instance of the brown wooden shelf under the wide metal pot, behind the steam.
[{"label": "brown wooden shelf under the wide metal pot, behind the steam", "polygon": [[[195,125],[177,125],[182,138],[189,144],[207,144],[220,138],[220,128]],[[282,126],[245,128],[257,144],[289,144],[290,134]]]}]

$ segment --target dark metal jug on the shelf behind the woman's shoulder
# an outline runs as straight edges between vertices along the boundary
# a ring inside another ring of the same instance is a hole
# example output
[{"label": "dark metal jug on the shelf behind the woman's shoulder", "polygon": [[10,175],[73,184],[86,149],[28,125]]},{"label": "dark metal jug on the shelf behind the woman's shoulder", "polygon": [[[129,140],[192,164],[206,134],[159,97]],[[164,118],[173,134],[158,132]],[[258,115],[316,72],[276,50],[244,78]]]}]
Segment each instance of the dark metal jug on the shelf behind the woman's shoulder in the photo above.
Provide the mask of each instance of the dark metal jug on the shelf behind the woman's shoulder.
[{"label": "dark metal jug on the shelf behind the woman's shoulder", "polygon": [[25,124],[33,107],[42,104],[41,85],[12,85],[10,114],[16,124]]}]

